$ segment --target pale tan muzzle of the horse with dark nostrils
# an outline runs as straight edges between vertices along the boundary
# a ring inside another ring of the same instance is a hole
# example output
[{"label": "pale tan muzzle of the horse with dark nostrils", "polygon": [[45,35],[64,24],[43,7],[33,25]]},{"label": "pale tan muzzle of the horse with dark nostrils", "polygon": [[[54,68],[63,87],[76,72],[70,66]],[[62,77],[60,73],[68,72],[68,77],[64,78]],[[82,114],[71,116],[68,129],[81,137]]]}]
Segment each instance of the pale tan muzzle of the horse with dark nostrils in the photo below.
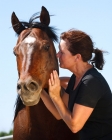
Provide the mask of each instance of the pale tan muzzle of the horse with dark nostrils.
[{"label": "pale tan muzzle of the horse with dark nostrils", "polygon": [[23,104],[26,106],[33,106],[36,105],[40,100],[42,87],[39,83],[32,80],[32,78],[26,79],[27,80],[18,80],[17,92],[20,95]]}]

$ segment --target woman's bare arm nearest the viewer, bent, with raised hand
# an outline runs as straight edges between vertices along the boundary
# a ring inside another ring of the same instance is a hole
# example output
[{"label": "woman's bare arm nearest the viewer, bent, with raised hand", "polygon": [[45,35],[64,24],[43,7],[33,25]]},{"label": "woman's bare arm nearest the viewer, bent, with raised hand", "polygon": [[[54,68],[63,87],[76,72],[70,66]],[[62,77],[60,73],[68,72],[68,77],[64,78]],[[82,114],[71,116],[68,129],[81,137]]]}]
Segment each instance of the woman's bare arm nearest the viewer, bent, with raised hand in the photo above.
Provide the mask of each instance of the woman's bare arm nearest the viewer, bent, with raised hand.
[{"label": "woman's bare arm nearest the viewer, bent, with raised hand", "polygon": [[91,115],[93,108],[74,104],[73,112],[70,112],[60,97],[60,80],[56,71],[53,71],[49,79],[49,95],[57,108],[61,118],[73,133],[78,132]]}]

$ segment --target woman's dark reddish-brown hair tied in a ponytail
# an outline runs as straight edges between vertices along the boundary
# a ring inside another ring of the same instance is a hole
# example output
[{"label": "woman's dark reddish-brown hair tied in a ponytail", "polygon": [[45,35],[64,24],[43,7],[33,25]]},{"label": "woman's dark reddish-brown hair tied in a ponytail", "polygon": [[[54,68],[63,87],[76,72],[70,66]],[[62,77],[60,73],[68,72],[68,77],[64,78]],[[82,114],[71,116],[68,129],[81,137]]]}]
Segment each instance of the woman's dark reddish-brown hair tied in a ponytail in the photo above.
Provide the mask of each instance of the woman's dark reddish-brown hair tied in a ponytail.
[{"label": "woman's dark reddish-brown hair tied in a ponytail", "polygon": [[[104,58],[103,51],[99,49],[94,49],[93,42],[89,35],[79,30],[69,30],[63,32],[60,36],[61,39],[67,39],[70,43],[68,50],[72,55],[81,54],[84,62],[90,61],[99,70],[103,69]],[[92,53],[95,56],[92,58]]]}]

